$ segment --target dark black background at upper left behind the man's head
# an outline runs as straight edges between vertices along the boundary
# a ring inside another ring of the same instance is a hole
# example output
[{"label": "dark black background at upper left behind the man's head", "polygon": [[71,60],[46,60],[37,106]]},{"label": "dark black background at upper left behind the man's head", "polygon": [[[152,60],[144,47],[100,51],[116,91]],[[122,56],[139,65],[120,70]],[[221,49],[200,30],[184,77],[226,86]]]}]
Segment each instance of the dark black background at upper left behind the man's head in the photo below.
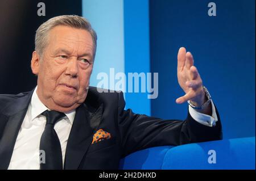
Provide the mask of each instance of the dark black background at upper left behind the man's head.
[{"label": "dark black background at upper left behind the man's head", "polygon": [[[39,2],[46,4],[46,16],[38,16]],[[82,15],[81,1],[1,0],[0,94],[18,94],[36,86],[30,68],[35,32],[49,18],[64,14]]]}]

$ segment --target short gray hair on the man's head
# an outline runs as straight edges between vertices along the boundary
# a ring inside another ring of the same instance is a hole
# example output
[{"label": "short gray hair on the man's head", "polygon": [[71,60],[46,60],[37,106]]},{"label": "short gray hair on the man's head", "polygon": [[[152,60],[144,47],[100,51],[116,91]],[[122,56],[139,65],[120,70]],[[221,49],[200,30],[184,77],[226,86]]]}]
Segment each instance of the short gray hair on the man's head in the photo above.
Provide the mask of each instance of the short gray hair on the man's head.
[{"label": "short gray hair on the man's head", "polygon": [[93,30],[88,20],[86,20],[84,17],[77,16],[77,15],[56,16],[47,20],[47,22],[44,22],[39,26],[38,30],[36,30],[36,35],[35,35],[35,50],[36,52],[38,52],[39,56],[42,57],[43,51],[47,46],[48,32],[52,28],[56,26],[61,26],[61,25],[72,27],[72,28],[83,29],[90,33],[93,40],[93,48],[94,48],[93,59],[94,59],[96,54],[96,47],[97,47],[97,34]]}]

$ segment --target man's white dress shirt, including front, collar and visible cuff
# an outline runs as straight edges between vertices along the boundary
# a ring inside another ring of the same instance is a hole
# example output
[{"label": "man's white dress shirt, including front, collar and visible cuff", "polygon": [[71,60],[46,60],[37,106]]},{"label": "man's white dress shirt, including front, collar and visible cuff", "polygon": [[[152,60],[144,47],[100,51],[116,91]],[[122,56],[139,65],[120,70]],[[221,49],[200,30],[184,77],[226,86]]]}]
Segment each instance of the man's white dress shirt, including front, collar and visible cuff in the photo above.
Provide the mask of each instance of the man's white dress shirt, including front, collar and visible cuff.
[{"label": "man's white dress shirt, including front, collar and visible cuff", "polygon": [[[40,139],[46,126],[46,117],[40,115],[48,110],[40,101],[35,88],[31,102],[28,106],[26,116],[20,127],[18,137],[16,138],[13,155],[11,157],[8,169],[40,169],[39,146]],[[200,124],[212,127],[216,124],[217,115],[212,103],[212,116],[197,112],[189,106],[189,113]],[[65,117],[58,121],[54,129],[60,140],[63,165],[65,160],[65,151],[68,142],[69,133],[75,118],[76,111],[65,113]]]}]

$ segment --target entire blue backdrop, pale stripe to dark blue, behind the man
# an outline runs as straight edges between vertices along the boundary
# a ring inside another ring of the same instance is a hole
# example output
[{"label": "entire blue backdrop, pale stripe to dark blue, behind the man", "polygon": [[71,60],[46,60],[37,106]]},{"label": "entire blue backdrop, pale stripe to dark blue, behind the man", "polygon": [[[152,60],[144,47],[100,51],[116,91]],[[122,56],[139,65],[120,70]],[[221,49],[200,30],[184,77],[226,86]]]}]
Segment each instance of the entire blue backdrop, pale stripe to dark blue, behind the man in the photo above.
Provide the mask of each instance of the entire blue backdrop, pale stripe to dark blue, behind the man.
[{"label": "entire blue backdrop, pale stripe to dark blue, behind the man", "polygon": [[[177,51],[192,52],[221,116],[224,138],[255,136],[255,1],[83,0],[82,14],[98,33],[90,79],[109,68],[158,73],[157,99],[126,93],[126,108],[163,119],[185,119],[177,83]],[[102,13],[104,12],[104,13]],[[110,87],[109,87],[110,88]]]}]

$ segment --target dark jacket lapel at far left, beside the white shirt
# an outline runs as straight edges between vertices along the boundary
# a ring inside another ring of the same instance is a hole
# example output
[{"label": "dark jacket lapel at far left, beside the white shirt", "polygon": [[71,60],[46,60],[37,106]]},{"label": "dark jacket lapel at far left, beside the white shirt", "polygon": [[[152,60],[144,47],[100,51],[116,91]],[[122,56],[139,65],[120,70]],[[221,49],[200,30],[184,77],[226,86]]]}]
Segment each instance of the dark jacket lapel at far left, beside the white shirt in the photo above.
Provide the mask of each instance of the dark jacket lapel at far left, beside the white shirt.
[{"label": "dark jacket lapel at far left, beside the white shirt", "polygon": [[26,115],[33,91],[14,100],[13,104],[2,111],[5,114],[7,123],[0,140],[0,169],[8,169],[9,167],[16,138]]}]

